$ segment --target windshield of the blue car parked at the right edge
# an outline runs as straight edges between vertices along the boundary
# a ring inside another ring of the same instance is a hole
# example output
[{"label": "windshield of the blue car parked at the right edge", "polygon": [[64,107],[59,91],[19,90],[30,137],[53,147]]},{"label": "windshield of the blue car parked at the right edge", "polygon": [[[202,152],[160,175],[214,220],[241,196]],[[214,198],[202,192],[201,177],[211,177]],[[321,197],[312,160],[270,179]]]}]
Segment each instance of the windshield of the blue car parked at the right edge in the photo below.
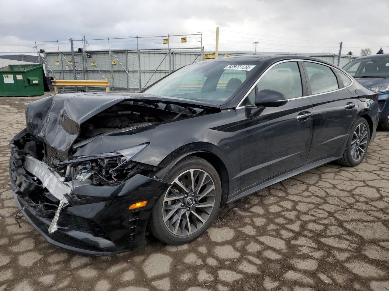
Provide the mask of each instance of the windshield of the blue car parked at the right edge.
[{"label": "windshield of the blue car parked at the right edge", "polygon": [[354,77],[389,77],[389,57],[356,59],[343,67]]}]

